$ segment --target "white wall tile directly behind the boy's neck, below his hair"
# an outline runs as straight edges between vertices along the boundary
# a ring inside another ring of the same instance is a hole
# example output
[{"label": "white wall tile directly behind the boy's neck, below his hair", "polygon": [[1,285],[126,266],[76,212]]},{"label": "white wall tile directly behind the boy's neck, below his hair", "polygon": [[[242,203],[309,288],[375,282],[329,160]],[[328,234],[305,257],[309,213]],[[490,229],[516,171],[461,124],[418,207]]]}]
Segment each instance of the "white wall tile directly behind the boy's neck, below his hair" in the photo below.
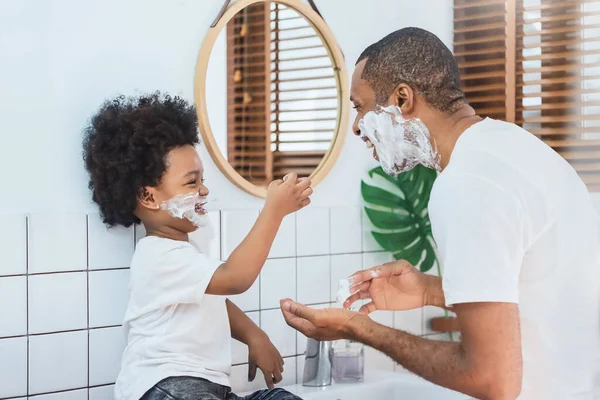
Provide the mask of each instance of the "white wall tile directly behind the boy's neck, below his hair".
[{"label": "white wall tile directly behind the boy's neck, below his hair", "polygon": [[88,215],[89,268],[123,268],[131,262],[133,226],[107,228],[98,214]]}]

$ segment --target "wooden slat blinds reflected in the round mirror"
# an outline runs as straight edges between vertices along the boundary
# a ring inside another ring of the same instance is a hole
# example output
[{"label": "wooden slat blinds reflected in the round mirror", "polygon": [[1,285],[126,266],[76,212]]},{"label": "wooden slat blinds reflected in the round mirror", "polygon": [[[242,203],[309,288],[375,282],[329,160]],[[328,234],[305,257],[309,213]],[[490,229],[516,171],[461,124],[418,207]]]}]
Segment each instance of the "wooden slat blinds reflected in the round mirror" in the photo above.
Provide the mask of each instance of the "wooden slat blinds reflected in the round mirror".
[{"label": "wooden slat blinds reflected in the round mirror", "polygon": [[289,172],[308,176],[337,124],[328,52],[309,22],[284,5],[258,3],[238,16],[228,24],[229,162],[255,184]]}]

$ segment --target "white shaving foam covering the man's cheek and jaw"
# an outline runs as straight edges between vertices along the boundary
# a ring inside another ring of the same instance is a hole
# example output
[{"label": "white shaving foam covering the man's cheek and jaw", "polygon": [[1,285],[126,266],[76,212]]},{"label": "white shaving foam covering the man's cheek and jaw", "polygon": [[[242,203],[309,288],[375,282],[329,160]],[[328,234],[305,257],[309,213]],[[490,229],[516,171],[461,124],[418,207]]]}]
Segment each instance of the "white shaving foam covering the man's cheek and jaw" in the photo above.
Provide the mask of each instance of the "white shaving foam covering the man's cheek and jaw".
[{"label": "white shaving foam covering the man's cheek and jaw", "polygon": [[441,170],[429,130],[418,118],[404,119],[398,106],[378,106],[358,122],[361,138],[375,146],[381,167],[398,175],[422,164]]}]

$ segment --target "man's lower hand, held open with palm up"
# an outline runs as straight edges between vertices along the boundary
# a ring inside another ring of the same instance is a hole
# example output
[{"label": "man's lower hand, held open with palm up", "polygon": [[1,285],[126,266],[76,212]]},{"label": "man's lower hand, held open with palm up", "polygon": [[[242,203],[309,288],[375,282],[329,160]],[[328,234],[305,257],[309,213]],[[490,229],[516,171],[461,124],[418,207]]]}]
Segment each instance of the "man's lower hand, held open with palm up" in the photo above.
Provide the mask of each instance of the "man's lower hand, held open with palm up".
[{"label": "man's lower hand, held open with palm up", "polygon": [[289,326],[321,341],[352,339],[355,327],[369,320],[365,315],[343,308],[315,310],[290,299],[281,300],[280,305]]}]

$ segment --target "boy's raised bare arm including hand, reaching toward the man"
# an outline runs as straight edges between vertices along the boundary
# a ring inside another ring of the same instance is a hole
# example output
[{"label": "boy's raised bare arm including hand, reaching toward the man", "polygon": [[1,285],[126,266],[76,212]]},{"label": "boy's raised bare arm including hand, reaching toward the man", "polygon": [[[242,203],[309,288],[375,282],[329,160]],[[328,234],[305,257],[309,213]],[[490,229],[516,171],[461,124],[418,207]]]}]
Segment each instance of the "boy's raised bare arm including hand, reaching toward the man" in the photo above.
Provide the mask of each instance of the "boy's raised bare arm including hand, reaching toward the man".
[{"label": "boy's raised bare arm including hand, reaching toward the man", "polygon": [[310,203],[310,184],[309,179],[297,179],[291,173],[285,182],[269,185],[265,207],[256,223],[229,259],[217,268],[206,293],[228,296],[244,293],[252,286],[267,260],[283,217]]}]

